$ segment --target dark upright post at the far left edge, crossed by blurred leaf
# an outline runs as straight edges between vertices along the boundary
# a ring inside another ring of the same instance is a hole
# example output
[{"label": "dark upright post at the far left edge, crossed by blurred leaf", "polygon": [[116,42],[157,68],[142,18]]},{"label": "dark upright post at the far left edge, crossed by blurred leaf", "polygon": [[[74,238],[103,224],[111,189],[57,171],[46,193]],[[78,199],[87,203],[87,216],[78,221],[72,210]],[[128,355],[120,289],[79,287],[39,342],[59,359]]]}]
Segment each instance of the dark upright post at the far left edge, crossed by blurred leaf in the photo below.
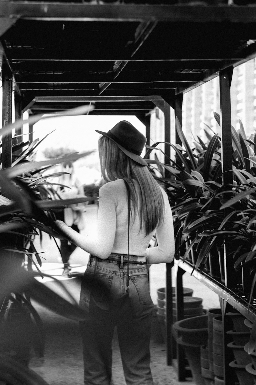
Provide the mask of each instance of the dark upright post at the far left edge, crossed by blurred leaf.
[{"label": "dark upright post at the far left edge, crossed by blurred leaf", "polygon": [[[12,72],[6,62],[2,64],[3,84],[3,117],[2,125],[5,127],[12,123]],[[2,139],[2,169],[12,167],[12,132]]]}]

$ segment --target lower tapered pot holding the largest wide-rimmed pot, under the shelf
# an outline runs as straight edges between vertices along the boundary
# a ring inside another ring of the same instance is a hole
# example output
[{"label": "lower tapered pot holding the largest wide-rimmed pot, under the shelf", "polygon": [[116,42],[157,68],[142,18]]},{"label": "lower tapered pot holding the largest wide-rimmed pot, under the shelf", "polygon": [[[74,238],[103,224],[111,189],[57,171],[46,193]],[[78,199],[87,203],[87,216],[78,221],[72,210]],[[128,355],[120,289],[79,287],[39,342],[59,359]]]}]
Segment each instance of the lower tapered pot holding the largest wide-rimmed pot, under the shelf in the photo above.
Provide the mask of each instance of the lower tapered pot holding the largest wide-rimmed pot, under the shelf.
[{"label": "lower tapered pot holding the largest wide-rimmed pot, under the shelf", "polygon": [[185,356],[187,357],[190,366],[193,381],[196,385],[205,385],[203,376],[201,375],[200,345],[184,342],[182,337],[177,338],[177,343],[183,346]]}]

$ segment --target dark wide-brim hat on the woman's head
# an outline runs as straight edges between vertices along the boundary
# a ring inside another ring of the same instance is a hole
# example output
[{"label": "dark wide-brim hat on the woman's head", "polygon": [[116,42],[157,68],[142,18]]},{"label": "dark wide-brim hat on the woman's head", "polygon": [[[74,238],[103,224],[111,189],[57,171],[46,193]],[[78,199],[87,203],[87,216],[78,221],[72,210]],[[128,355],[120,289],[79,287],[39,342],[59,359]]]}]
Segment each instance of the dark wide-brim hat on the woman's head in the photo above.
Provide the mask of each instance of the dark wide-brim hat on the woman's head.
[{"label": "dark wide-brim hat on the woman's head", "polygon": [[108,132],[98,131],[99,134],[108,137],[120,148],[124,154],[142,166],[147,166],[147,162],[140,156],[147,138],[137,130],[130,122],[118,122]]}]

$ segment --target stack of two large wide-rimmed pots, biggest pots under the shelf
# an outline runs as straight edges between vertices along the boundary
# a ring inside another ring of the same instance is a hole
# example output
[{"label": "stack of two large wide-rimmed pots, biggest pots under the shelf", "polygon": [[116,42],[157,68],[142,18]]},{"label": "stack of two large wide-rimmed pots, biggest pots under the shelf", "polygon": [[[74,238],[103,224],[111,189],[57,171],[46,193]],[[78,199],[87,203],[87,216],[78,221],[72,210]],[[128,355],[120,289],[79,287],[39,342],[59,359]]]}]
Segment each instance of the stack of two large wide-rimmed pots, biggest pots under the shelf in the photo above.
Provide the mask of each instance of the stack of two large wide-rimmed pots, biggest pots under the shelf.
[{"label": "stack of two large wide-rimmed pots, biggest pots under the shelf", "polygon": [[177,343],[182,345],[187,357],[193,381],[197,385],[205,385],[201,374],[201,345],[206,345],[208,339],[208,317],[201,315],[175,322],[173,329],[178,338]]}]

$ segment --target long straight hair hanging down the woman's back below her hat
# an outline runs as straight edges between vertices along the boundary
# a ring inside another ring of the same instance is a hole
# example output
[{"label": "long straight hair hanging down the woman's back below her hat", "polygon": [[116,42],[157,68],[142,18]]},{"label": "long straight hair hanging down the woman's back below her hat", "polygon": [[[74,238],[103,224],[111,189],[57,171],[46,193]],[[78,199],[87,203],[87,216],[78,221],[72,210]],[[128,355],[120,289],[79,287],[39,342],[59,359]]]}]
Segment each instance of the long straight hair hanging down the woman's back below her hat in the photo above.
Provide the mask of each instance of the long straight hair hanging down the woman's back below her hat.
[{"label": "long straight hair hanging down the woman's back below her hat", "polygon": [[139,215],[140,230],[143,227],[146,235],[150,234],[164,221],[164,197],[148,167],[128,157],[106,136],[99,138],[99,160],[104,181],[127,181],[133,212]]}]

